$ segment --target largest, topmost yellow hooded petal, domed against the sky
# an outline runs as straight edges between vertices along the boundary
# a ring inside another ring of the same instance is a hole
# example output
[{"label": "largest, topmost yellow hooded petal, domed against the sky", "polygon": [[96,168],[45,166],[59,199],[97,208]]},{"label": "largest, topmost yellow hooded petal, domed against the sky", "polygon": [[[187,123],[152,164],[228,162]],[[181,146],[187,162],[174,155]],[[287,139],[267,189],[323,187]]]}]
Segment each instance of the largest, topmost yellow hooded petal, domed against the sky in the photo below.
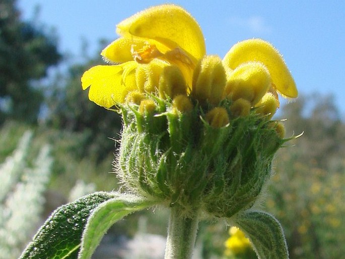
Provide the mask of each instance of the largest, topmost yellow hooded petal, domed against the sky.
[{"label": "largest, topmost yellow hooded petal, domed against the sky", "polygon": [[118,24],[117,33],[127,38],[135,36],[156,40],[169,49],[180,47],[196,60],[201,59],[206,51],[197,22],[175,5],[156,6],[137,13]]}]

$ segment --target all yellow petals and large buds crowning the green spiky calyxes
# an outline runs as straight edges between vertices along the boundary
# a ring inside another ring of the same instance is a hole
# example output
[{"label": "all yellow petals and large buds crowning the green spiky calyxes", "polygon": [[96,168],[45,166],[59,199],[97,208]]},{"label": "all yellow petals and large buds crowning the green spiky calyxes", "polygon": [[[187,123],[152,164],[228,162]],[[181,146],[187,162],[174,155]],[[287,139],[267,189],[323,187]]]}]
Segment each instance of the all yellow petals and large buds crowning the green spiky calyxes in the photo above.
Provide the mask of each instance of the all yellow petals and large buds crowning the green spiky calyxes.
[{"label": "all yellow petals and large buds crowning the green spiky calyxes", "polygon": [[[126,96],[132,91],[163,99],[182,93],[214,107],[224,98],[243,98],[254,107],[266,92],[297,97],[295,82],[270,43],[239,42],[223,61],[205,56],[202,31],[181,7],[149,8],[120,22],[116,32],[120,38],[101,53],[114,65],[93,67],[82,77],[83,89],[90,87],[90,100],[105,108],[131,100]],[[175,74],[178,79],[166,81]]]}]

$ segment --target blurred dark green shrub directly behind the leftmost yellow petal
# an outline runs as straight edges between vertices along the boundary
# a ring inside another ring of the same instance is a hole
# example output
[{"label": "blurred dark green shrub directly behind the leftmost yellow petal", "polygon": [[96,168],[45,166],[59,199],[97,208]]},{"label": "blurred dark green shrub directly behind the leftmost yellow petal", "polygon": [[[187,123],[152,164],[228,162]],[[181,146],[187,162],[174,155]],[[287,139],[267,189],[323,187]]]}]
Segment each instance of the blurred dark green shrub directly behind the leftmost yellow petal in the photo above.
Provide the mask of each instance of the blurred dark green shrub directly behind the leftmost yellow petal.
[{"label": "blurred dark green shrub directly behind the leftmost yellow petal", "polygon": [[[100,49],[104,45],[104,41],[100,41]],[[95,65],[104,64],[99,53],[85,63],[70,65],[66,73],[57,74],[46,87],[45,94],[46,125],[83,134],[82,148],[76,150],[76,154],[79,159],[91,157],[97,162],[115,151],[114,141],[110,139],[119,139],[121,130],[119,114],[91,102],[88,91],[81,88],[83,73]]]}]

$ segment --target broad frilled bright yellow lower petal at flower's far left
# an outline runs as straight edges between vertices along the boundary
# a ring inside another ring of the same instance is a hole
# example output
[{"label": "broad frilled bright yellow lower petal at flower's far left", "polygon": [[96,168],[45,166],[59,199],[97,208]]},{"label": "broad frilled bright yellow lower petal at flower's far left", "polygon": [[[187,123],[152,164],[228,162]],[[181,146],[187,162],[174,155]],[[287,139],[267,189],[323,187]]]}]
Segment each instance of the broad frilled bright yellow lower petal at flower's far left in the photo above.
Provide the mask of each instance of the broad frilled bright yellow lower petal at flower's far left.
[{"label": "broad frilled bright yellow lower petal at flower's far left", "polygon": [[[133,62],[135,63],[135,62]],[[89,90],[89,99],[97,103],[97,105],[110,108],[116,103],[124,102],[124,98],[131,90],[136,89],[135,80],[126,83],[132,72],[127,72],[127,76],[123,77],[125,69],[135,66],[132,62],[127,62],[117,66],[96,66],[86,71],[82,77],[83,89]],[[133,77],[134,78],[134,77]]]}]

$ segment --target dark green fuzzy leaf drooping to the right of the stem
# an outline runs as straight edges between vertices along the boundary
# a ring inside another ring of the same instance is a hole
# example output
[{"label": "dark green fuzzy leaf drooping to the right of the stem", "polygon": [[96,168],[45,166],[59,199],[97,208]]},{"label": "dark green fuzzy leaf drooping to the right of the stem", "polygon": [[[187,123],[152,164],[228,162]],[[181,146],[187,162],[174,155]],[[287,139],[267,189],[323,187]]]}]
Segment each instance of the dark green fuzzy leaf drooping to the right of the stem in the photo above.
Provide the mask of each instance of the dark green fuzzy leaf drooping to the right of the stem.
[{"label": "dark green fuzzy leaf drooping to the right of the stem", "polygon": [[250,239],[260,259],[289,259],[282,226],[272,215],[246,211],[234,222]]}]

